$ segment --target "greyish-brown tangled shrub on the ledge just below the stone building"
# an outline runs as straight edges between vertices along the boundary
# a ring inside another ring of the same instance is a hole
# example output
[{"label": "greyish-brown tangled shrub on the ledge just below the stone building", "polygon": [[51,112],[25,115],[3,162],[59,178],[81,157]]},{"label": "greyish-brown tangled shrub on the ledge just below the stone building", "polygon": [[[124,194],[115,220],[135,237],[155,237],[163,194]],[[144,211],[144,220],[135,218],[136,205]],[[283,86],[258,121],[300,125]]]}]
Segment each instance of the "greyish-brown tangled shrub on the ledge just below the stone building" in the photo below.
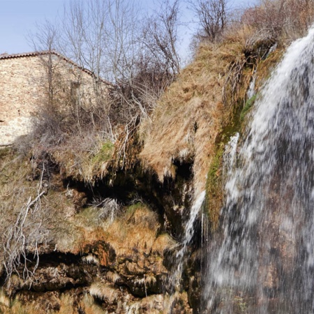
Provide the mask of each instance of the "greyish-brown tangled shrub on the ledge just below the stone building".
[{"label": "greyish-brown tangled shrub on the ledge just below the stone building", "polygon": [[19,141],[15,146],[24,155],[31,151],[34,160],[44,156],[54,160],[67,177],[89,183],[96,177],[101,179],[107,173],[116,138],[106,123],[105,112],[100,115],[100,107],[98,114],[82,108],[80,111],[84,112],[84,117],[78,122],[71,110],[63,110],[59,105],[50,110],[43,105],[33,117],[33,132],[22,139],[27,145]]}]

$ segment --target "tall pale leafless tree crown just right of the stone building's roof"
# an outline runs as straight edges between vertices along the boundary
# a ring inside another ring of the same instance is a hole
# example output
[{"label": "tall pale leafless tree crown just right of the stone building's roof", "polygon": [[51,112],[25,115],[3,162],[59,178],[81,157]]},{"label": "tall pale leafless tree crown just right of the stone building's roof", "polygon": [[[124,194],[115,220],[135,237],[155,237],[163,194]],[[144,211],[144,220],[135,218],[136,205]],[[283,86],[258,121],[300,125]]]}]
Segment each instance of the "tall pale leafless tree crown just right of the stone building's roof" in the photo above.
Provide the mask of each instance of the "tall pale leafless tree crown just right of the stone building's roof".
[{"label": "tall pale leafless tree crown just right of the stone building's roof", "polygon": [[71,0],[61,24],[63,54],[111,82],[130,76],[140,24],[133,1]]}]

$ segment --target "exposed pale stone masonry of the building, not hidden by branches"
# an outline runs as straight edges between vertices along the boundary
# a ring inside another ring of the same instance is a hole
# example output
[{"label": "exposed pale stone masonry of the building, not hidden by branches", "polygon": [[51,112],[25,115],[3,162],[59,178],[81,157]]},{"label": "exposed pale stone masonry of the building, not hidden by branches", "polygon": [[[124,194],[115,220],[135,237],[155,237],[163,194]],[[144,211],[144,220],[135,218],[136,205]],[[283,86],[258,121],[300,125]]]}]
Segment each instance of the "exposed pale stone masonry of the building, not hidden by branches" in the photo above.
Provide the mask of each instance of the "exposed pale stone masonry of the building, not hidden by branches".
[{"label": "exposed pale stone masonry of the building, not hidden by branches", "polygon": [[[0,147],[13,144],[31,130],[31,119],[47,95],[47,58],[58,68],[63,91],[80,82],[80,91],[92,103],[95,77],[57,52],[0,54]],[[75,83],[75,84],[73,84]]]}]

